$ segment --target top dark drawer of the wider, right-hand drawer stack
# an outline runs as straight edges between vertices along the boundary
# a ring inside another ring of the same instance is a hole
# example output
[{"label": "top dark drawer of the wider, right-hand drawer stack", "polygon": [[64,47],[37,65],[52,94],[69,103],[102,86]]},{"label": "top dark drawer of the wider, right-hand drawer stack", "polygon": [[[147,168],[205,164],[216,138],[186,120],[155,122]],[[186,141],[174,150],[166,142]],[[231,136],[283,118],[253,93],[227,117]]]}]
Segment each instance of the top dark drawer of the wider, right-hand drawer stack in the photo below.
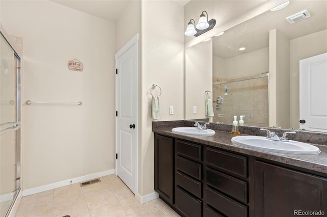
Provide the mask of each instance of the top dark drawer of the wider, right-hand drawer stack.
[{"label": "top dark drawer of the wider, right-hand drawer stack", "polygon": [[247,178],[247,157],[245,156],[206,148],[205,162],[207,165],[214,166],[227,173]]}]

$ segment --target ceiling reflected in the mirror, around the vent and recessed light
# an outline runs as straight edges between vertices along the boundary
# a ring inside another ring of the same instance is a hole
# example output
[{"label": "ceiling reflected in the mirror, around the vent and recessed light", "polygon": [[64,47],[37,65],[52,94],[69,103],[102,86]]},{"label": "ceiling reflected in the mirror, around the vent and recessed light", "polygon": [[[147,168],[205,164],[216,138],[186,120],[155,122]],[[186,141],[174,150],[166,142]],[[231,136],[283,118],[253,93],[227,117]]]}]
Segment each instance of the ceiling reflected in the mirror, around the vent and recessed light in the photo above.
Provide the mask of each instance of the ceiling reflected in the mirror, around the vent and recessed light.
[{"label": "ceiling reflected in the mirror, around the vent and recessed light", "polygon": [[[308,9],[311,17],[289,24],[286,17]],[[269,31],[277,29],[290,40],[327,29],[327,1],[292,0],[279,11],[267,11],[213,37],[215,56],[226,59],[269,46]],[[246,50],[239,51],[240,47]]]}]

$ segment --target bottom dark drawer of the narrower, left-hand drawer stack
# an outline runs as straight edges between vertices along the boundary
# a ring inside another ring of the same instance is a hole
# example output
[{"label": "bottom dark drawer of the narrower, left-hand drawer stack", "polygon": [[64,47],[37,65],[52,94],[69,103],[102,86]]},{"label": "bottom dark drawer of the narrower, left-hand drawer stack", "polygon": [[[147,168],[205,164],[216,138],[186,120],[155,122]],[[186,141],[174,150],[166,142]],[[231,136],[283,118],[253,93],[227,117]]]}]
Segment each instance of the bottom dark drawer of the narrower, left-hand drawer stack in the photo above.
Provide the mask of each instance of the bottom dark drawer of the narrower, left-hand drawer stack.
[{"label": "bottom dark drawer of the narrower, left-hand drawer stack", "polygon": [[186,216],[202,216],[202,201],[176,187],[176,207]]}]

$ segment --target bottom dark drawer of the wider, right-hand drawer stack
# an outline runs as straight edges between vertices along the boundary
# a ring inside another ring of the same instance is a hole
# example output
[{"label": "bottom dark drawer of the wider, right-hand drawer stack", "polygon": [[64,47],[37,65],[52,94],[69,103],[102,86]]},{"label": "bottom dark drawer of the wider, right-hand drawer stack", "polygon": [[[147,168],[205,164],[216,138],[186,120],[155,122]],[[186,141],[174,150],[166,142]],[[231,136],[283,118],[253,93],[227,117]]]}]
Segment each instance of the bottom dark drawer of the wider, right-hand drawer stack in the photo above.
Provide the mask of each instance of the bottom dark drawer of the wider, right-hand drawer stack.
[{"label": "bottom dark drawer of the wider, right-hand drawer stack", "polygon": [[247,217],[247,206],[206,187],[206,202],[227,216]]}]

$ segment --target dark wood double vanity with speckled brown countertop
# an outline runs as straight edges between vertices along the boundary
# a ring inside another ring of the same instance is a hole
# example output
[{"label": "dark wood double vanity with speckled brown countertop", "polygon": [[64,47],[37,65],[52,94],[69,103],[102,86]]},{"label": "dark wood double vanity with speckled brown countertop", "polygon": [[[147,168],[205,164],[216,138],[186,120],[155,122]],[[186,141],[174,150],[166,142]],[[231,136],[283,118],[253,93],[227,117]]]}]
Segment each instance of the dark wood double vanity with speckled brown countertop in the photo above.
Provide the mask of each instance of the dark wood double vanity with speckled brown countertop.
[{"label": "dark wood double vanity with speckled brown countertop", "polygon": [[230,132],[190,136],[174,126],[153,122],[155,191],[180,215],[327,214],[327,146],[313,155],[269,153],[233,145]]}]

